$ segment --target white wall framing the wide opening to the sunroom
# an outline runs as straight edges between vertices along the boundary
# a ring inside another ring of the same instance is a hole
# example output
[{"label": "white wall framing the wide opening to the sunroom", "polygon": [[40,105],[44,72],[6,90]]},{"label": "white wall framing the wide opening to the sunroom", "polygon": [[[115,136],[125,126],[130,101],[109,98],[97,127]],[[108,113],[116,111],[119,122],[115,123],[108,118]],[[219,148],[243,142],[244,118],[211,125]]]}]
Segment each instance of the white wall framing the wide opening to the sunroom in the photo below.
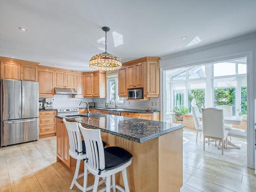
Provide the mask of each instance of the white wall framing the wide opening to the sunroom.
[{"label": "white wall framing the wide opening to the sunroom", "polygon": [[[254,156],[254,100],[256,98],[256,33],[245,36],[217,42],[216,44],[203,46],[193,50],[183,51],[180,53],[170,54],[161,57],[161,90],[163,90],[164,70],[186,67],[207,62],[214,62],[224,58],[238,58],[239,56],[247,56],[247,88],[248,90],[248,108],[247,116],[247,165],[253,167]],[[161,92],[162,93],[162,92]],[[164,96],[161,96],[161,112],[163,112],[164,104],[162,103]]]}]

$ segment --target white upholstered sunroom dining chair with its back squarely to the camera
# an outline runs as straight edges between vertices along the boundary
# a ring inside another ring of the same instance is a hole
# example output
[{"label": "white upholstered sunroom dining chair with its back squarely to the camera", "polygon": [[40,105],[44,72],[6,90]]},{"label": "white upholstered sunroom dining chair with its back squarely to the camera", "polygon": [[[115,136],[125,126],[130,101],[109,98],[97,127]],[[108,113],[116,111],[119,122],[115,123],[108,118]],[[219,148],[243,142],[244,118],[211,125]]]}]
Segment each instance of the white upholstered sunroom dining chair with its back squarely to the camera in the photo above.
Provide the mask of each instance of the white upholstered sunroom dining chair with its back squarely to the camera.
[{"label": "white upholstered sunroom dining chair with its back squarely to the camera", "polygon": [[227,147],[228,136],[228,131],[224,129],[223,110],[204,108],[202,109],[202,117],[204,136],[203,150],[205,151],[205,138],[220,140],[222,143],[221,154],[223,155],[224,145]]}]

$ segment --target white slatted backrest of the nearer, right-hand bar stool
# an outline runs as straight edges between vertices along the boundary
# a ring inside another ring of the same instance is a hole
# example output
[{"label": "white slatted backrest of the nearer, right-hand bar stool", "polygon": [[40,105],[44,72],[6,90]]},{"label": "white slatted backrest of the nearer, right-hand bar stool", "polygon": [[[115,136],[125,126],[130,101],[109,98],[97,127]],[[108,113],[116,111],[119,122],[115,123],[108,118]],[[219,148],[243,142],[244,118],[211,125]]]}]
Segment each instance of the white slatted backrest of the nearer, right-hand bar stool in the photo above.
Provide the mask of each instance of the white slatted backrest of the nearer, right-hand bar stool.
[{"label": "white slatted backrest of the nearer, right-hand bar stool", "polygon": [[105,157],[100,130],[86,129],[81,123],[78,123],[78,126],[86,144],[87,166],[96,171],[104,170]]}]

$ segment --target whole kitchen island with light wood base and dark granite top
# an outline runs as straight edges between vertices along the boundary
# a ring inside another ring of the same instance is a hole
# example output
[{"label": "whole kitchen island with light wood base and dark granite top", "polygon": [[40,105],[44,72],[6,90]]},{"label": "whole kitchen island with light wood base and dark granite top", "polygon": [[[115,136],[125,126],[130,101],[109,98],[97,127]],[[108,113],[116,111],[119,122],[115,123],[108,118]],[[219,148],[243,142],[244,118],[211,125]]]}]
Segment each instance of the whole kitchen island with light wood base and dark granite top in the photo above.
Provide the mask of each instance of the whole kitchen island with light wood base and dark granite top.
[{"label": "whole kitchen island with light wood base and dark granite top", "polygon": [[[75,160],[68,154],[68,136],[62,118],[100,129],[107,146],[119,146],[133,154],[132,164],[127,168],[130,191],[180,191],[184,125],[105,114],[56,118],[57,159],[71,169]],[[116,175],[116,183],[122,185],[120,175]]]}]

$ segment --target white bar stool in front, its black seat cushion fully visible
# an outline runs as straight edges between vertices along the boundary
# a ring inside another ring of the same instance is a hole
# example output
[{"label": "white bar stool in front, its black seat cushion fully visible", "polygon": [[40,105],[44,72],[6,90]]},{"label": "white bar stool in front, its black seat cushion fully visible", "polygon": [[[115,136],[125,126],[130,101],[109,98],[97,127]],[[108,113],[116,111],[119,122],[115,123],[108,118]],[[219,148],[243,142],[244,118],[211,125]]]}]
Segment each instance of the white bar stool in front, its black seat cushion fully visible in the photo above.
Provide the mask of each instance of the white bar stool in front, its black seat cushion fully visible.
[{"label": "white bar stool in front, its black seat cushion fully visible", "polygon": [[[81,123],[78,123],[78,126],[86,143],[87,150],[87,158],[84,161],[84,178],[87,177],[87,170],[95,176],[93,192],[98,190],[100,177],[103,180],[106,178],[106,187],[100,189],[99,192],[110,192],[111,188],[113,188],[114,192],[116,188],[122,192],[129,192],[126,167],[132,163],[132,154],[116,146],[103,148],[100,130],[86,129],[82,127]],[[115,174],[118,172],[122,172],[125,189],[115,184]],[[83,185],[86,184],[87,182],[83,183]]]}]

